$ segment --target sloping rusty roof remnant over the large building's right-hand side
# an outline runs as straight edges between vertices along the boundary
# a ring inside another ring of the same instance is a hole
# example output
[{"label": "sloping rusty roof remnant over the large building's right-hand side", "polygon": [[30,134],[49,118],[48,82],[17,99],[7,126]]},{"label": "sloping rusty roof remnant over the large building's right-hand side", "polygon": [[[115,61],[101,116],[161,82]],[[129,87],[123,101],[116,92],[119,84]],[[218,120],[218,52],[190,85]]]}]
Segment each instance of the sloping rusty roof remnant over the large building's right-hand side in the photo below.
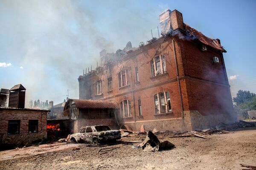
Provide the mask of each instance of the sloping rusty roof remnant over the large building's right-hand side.
[{"label": "sloping rusty roof remnant over the large building's right-hand side", "polygon": [[204,34],[202,34],[201,32],[199,32],[198,30],[196,30],[195,28],[192,28],[191,26],[187,25],[184,23],[184,27],[187,31],[190,32],[190,34],[194,35],[199,41],[201,41],[202,43],[204,43],[205,45],[209,45],[212,48],[215,48],[217,50],[220,50],[222,52],[227,52],[223,46],[221,46],[218,43],[218,40],[206,37]]}]

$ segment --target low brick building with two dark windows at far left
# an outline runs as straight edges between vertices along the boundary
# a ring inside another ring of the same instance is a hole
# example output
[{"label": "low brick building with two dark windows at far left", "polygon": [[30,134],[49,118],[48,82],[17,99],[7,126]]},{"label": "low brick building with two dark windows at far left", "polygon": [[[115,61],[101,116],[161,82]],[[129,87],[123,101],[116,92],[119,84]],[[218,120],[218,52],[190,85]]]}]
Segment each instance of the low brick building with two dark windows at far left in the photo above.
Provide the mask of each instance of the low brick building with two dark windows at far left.
[{"label": "low brick building with two dark windows at far left", "polygon": [[25,88],[10,89],[9,106],[0,107],[0,144],[16,146],[47,139],[48,110],[24,108]]}]

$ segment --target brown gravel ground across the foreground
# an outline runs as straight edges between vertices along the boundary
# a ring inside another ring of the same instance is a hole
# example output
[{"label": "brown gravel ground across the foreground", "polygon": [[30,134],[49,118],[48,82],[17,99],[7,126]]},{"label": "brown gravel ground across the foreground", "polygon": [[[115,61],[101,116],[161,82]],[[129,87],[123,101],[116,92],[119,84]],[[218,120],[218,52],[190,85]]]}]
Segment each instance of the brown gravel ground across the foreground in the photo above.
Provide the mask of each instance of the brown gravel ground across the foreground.
[{"label": "brown gravel ground across the foreground", "polygon": [[[256,127],[243,128],[234,133],[205,136],[209,139],[170,138],[171,136],[157,135],[160,141],[169,140],[175,144],[172,150],[144,152],[141,148],[132,148],[136,144],[121,143],[101,147],[73,144],[72,147],[55,153],[25,157],[23,155],[20,158],[15,156],[1,160],[0,170],[241,170],[240,163],[256,165]],[[144,138],[144,135],[129,136],[122,138],[122,141]],[[73,150],[76,146],[81,149]],[[116,148],[100,151],[108,147]]]}]

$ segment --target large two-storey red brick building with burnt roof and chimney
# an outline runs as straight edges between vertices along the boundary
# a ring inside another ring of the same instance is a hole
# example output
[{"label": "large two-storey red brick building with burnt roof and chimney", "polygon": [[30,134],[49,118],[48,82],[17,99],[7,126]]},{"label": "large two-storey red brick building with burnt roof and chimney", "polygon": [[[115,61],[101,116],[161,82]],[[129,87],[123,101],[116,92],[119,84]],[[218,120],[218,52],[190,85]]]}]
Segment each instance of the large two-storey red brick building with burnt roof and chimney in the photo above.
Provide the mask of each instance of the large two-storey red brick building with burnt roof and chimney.
[{"label": "large two-storey red brick building with burnt roof and chimney", "polygon": [[218,39],[183,23],[182,14],[160,14],[162,36],[116,53],[100,52],[101,65],[79,76],[79,99],[119,105],[119,125],[139,130],[199,129],[232,122],[233,103]]}]

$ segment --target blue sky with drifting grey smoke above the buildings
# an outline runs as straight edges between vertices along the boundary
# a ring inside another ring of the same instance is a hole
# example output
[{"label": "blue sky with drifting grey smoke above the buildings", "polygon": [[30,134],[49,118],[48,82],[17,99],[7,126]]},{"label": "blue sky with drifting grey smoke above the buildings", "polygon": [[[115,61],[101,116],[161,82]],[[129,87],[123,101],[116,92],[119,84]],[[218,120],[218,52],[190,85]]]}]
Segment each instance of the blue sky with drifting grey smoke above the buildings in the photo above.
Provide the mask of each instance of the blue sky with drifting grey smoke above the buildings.
[{"label": "blue sky with drifting grey smoke above the buildings", "polygon": [[30,99],[78,98],[78,77],[115,52],[157,37],[159,14],[177,9],[189,24],[218,38],[233,96],[256,93],[255,0],[1,0],[0,88],[22,84]]}]

